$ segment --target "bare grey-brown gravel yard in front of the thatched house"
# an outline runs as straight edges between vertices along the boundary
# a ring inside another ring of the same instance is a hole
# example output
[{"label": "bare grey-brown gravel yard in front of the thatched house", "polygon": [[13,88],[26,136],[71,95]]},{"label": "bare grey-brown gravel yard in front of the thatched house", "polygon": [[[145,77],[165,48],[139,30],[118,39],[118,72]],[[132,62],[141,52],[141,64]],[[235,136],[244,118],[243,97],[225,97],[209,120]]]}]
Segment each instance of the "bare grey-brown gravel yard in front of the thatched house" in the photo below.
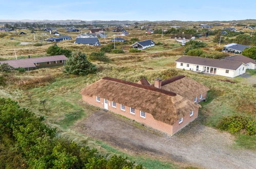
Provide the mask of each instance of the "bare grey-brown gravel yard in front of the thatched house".
[{"label": "bare grey-brown gravel yard in front of the thatched house", "polygon": [[256,168],[256,152],[234,150],[233,137],[193,122],[172,137],[157,135],[108,112],[95,112],[74,129],[135,154],[204,168]]}]

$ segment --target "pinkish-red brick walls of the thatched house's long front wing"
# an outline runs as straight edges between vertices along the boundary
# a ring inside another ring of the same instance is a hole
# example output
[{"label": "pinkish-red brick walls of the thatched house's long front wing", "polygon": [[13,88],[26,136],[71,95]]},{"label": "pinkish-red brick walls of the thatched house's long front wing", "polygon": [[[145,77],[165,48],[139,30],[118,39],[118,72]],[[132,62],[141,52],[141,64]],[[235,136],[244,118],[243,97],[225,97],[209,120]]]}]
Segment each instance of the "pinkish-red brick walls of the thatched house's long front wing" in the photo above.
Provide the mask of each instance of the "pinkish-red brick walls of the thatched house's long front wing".
[{"label": "pinkish-red brick walls of the thatched house's long front wing", "polygon": [[[96,96],[82,96],[83,101],[95,105],[96,107],[100,107],[104,109],[104,98],[101,98],[101,102],[96,101]],[[130,113],[130,107],[125,106],[125,111],[121,110],[121,104],[116,103],[116,108],[112,107],[112,101],[108,100],[108,110],[112,111],[116,114],[120,114],[137,122],[143,123],[151,128],[162,131],[169,135],[173,135],[178,132],[184,126],[186,126],[189,122],[193,121],[196,117],[198,117],[198,110],[194,111],[194,115],[192,117],[186,116],[183,118],[183,122],[179,124],[179,121],[175,122],[173,125],[164,123],[162,121],[155,120],[154,117],[150,113],[146,113],[146,118],[140,116],[140,110],[135,109],[135,115]]]}]

